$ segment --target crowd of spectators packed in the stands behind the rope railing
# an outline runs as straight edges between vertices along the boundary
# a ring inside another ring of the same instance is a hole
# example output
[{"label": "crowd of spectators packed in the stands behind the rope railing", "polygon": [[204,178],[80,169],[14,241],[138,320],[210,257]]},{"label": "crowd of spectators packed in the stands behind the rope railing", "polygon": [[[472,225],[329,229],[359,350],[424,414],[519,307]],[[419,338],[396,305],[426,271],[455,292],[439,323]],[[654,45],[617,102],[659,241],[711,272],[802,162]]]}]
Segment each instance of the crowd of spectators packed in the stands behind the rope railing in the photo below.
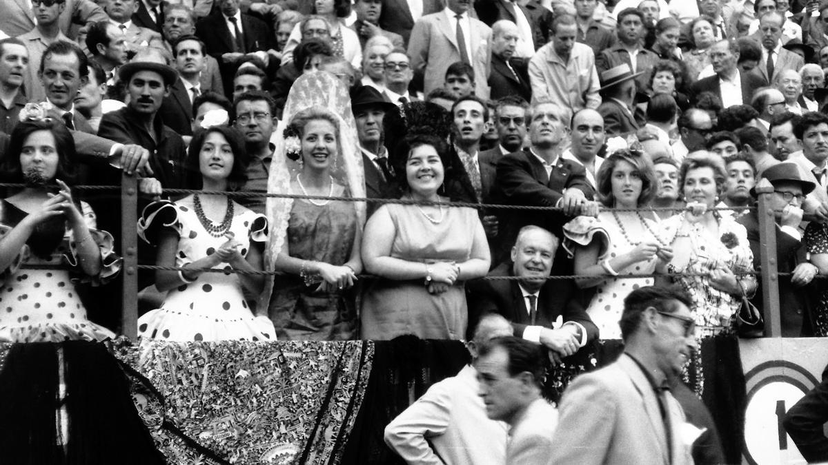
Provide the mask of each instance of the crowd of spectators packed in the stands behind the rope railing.
[{"label": "crowd of spectators packed in the stands behind the rope railing", "polygon": [[828,335],[828,2],[24,3],[0,0],[0,180],[26,186],[0,204],[2,341],[118,332],[120,192],[73,187],[122,172],[139,261],[178,268],[139,273],[142,338],[560,363],[636,333],[652,285],[681,288],[652,298],[684,338],[733,336],[767,254],[782,335]]}]

